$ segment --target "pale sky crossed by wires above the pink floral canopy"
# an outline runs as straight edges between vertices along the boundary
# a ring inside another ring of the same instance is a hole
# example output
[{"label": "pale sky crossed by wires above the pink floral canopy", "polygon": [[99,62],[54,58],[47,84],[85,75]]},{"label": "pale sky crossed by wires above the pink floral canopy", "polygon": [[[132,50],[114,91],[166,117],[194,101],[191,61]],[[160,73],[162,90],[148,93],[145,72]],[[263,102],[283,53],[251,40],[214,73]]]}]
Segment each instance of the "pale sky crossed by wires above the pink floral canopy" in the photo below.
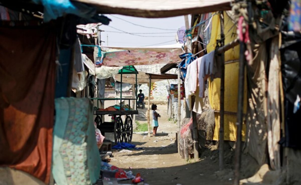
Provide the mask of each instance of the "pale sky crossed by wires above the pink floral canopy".
[{"label": "pale sky crossed by wires above the pink floral canopy", "polygon": [[[159,46],[159,45],[175,44],[177,30],[180,27],[185,26],[184,16],[169,17],[169,18],[140,18],[140,17],[130,17],[130,16],[123,16],[123,15],[116,15],[116,14],[112,14],[112,15],[106,14],[105,16],[109,17],[112,21],[108,26],[102,25],[100,27],[104,31],[101,32],[101,40],[104,41],[102,45],[108,44],[109,46],[141,47],[141,46]],[[191,20],[191,16],[188,17],[188,20],[189,21]],[[141,25],[141,26],[137,26],[137,25]],[[143,26],[153,27],[153,28],[146,28]],[[155,28],[160,28],[160,29],[155,29]],[[139,34],[132,35],[124,32],[133,33],[133,34],[139,33]],[[156,34],[144,34],[144,33],[156,33]],[[142,36],[137,36],[137,35],[142,35]]]}]

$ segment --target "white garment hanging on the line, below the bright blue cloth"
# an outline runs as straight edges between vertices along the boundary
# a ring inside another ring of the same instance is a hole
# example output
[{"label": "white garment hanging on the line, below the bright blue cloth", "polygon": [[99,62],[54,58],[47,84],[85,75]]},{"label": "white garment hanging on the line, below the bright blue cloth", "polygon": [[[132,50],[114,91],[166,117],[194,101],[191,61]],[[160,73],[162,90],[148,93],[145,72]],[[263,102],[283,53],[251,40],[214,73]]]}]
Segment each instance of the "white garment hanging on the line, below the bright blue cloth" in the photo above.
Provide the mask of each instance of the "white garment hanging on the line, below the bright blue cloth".
[{"label": "white garment hanging on the line, below the bright blue cloth", "polygon": [[191,110],[191,96],[197,89],[197,60],[194,60],[187,66],[185,77],[185,98],[188,109]]}]

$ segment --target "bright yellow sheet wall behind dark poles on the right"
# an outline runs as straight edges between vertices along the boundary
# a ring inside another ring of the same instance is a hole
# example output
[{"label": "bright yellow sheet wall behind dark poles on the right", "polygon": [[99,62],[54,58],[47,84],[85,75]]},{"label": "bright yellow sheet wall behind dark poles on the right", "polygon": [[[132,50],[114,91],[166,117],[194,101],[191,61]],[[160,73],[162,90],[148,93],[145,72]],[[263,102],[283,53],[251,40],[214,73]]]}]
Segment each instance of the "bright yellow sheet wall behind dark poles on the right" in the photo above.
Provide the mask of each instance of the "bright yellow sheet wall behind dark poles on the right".
[{"label": "bright yellow sheet wall behind dark poles on the right", "polygon": [[[225,45],[236,39],[236,26],[230,17],[224,12],[225,23]],[[215,15],[212,19],[212,30],[210,42],[207,45],[207,52],[214,51],[216,48],[216,40],[220,39],[220,19],[219,15]],[[239,46],[236,46],[225,52],[225,62],[238,60]],[[237,113],[237,92],[238,92],[238,69],[239,63],[225,64],[225,111]],[[220,79],[209,80],[209,102],[210,106],[220,110]],[[244,113],[247,110],[247,81],[244,88]],[[215,130],[213,140],[219,140],[219,113],[215,113]],[[236,115],[226,114],[224,117],[225,129],[224,140],[236,141],[237,127]],[[246,125],[243,124],[242,140],[245,140]]]}]

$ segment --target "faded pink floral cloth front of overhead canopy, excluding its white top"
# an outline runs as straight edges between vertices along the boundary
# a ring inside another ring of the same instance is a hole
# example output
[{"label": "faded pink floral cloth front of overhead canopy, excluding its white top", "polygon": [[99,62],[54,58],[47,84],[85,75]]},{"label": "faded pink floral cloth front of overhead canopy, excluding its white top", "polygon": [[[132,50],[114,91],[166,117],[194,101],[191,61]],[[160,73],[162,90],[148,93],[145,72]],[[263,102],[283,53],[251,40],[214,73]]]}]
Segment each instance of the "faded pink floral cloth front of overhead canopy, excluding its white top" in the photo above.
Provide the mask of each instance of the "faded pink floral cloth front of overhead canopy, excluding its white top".
[{"label": "faded pink floral cloth front of overhead canopy, excluding its white top", "polygon": [[104,66],[129,66],[177,63],[182,50],[157,52],[144,50],[117,51],[105,54]]}]

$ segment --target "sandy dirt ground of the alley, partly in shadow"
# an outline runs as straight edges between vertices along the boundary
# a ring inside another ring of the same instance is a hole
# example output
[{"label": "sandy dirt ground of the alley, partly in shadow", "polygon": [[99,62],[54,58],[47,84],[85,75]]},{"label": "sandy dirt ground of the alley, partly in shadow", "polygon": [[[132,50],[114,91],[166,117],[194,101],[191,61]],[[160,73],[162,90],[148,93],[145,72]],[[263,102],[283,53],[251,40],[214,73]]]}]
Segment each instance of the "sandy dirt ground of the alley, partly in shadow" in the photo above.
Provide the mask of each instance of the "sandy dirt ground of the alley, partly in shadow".
[{"label": "sandy dirt ground of the alley, partly in shadow", "polygon": [[[141,110],[141,109],[140,109]],[[147,109],[143,110],[144,112]],[[167,117],[167,105],[158,105],[157,112],[160,113],[159,128],[156,137],[148,137],[147,133],[133,134],[132,144],[136,147],[143,147],[141,150],[134,150],[131,153],[121,153],[113,150],[110,164],[126,171],[131,170],[134,174],[140,173],[144,183],[150,185],[230,185],[230,178],[218,178],[218,160],[205,152],[197,162],[194,160],[182,159],[177,153],[175,143],[175,132],[177,125],[169,122]],[[139,119],[141,123],[146,118]],[[152,129],[151,129],[152,130]],[[107,139],[112,138],[106,134]],[[226,175],[226,174],[225,174]],[[120,182],[129,183],[129,181]]]}]

